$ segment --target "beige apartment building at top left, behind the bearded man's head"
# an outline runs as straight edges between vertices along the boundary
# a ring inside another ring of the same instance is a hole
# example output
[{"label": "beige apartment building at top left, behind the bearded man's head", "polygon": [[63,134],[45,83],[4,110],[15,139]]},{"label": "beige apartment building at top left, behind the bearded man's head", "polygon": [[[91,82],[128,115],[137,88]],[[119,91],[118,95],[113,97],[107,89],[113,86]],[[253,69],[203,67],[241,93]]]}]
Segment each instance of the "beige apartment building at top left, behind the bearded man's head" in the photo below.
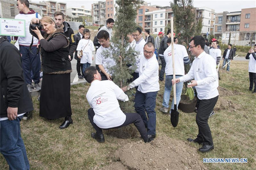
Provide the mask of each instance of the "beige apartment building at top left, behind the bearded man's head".
[{"label": "beige apartment building at top left, behind the bearded man's head", "polygon": [[42,16],[50,16],[53,17],[54,12],[61,11],[64,15],[66,15],[67,4],[64,2],[57,1],[39,1],[39,3],[35,3],[29,1],[29,4],[35,5],[42,9]]}]

